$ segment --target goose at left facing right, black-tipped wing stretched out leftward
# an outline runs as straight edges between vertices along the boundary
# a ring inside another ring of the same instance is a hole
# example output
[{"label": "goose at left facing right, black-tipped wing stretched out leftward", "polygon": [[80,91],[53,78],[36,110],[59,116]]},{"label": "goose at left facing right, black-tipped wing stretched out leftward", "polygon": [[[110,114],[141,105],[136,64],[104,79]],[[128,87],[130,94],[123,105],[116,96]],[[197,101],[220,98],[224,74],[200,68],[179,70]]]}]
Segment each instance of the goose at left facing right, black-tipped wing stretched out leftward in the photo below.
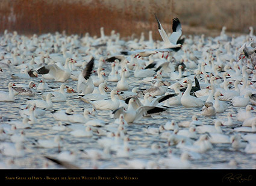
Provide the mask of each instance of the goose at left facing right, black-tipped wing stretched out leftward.
[{"label": "goose at left facing right, black-tipped wing stretched out leftward", "polygon": [[37,70],[38,74],[48,74],[51,75],[55,81],[65,82],[67,79],[70,78],[70,69],[68,64],[70,63],[72,59],[66,58],[65,67],[60,68],[57,66],[57,64],[48,64],[46,66],[40,67],[40,69]]}]

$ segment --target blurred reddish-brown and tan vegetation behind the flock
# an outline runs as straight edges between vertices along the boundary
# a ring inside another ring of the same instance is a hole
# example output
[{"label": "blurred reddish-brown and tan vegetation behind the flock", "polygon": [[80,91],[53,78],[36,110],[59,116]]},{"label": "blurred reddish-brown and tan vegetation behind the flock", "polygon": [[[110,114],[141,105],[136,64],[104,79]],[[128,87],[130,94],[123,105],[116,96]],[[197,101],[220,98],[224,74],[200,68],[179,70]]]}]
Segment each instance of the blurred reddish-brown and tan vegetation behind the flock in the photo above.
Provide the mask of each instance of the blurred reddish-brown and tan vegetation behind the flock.
[{"label": "blurred reddish-brown and tan vegetation behind the flock", "polygon": [[166,31],[178,17],[184,34],[216,36],[222,26],[228,33],[249,33],[256,21],[255,0],[0,0],[0,33],[19,34],[66,31],[99,36],[114,29],[121,37],[153,31],[159,39],[154,13]]}]

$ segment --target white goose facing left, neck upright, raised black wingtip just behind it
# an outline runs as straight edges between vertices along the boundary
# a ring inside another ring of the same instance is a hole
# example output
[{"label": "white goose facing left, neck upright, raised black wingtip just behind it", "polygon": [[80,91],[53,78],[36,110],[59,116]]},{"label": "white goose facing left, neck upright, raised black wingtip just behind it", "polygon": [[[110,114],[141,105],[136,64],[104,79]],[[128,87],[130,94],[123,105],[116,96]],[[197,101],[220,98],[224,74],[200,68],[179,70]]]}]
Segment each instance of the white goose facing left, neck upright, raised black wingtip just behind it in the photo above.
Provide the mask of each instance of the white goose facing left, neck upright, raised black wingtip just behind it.
[{"label": "white goose facing left, neck upright, raised black wingtip just behind it", "polygon": [[183,83],[187,83],[187,89],[181,97],[181,105],[184,107],[203,107],[204,102],[201,99],[198,99],[194,96],[190,96],[190,91],[192,88],[192,80],[186,78]]}]

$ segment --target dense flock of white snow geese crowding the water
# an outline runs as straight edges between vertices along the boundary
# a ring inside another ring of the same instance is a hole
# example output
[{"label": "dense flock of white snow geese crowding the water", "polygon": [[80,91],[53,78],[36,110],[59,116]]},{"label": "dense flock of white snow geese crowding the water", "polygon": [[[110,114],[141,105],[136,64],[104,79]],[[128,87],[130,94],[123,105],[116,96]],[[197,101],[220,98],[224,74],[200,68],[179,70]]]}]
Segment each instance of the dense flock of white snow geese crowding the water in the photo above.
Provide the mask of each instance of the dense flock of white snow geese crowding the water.
[{"label": "dense flock of white snow geese crowding the water", "polygon": [[[20,102],[19,96],[26,101],[19,108],[22,119],[1,116],[0,167],[10,169],[16,160],[25,157],[26,131],[44,125],[39,120],[46,116],[55,120],[48,129],[57,131],[55,138],[34,137],[33,145],[58,149],[57,155],[45,154],[43,158],[67,169],[84,169],[76,163],[83,158],[91,159],[98,169],[109,166],[97,165],[99,160],[111,158],[124,158],[125,163],[116,166],[121,169],[189,169],[193,167],[190,160],[202,159],[202,154],[217,144],[228,144],[234,153],[255,154],[253,28],[249,28],[249,34],[237,37],[228,36],[225,26],[217,37],[184,36],[178,18],[172,20],[172,33],[166,33],[155,18],[161,41],[152,39],[152,31],[148,40],[143,33],[139,39],[131,36],[122,40],[115,31],[106,36],[103,27],[100,37],[89,33],[67,36],[64,32],[27,37],[6,30],[0,38],[0,73],[9,78],[8,82],[2,80],[1,86],[8,87],[8,91],[0,91],[0,101],[15,104]],[[60,88],[51,88],[53,82],[60,82]],[[39,94],[42,99],[33,98]],[[83,113],[75,113],[72,105],[64,110],[54,106],[73,99],[70,95],[76,95],[84,105]],[[143,119],[171,115],[175,107],[180,108],[181,116],[186,115],[187,108],[195,107],[195,114],[191,120],[141,125],[143,135],[155,135],[166,143],[131,146],[127,129]],[[233,107],[237,107],[236,116],[227,111]],[[104,111],[110,112],[108,122],[97,118]],[[216,119],[223,113],[226,120]],[[214,120],[201,122],[199,116]],[[226,129],[231,132],[226,134]],[[65,137],[58,135],[63,131],[68,131]],[[69,136],[97,136],[93,140],[101,149],[63,150],[61,144]],[[179,151],[174,154],[170,149]],[[160,153],[164,155],[158,160],[134,158]],[[237,161],[231,160],[226,167],[236,169]]]}]

